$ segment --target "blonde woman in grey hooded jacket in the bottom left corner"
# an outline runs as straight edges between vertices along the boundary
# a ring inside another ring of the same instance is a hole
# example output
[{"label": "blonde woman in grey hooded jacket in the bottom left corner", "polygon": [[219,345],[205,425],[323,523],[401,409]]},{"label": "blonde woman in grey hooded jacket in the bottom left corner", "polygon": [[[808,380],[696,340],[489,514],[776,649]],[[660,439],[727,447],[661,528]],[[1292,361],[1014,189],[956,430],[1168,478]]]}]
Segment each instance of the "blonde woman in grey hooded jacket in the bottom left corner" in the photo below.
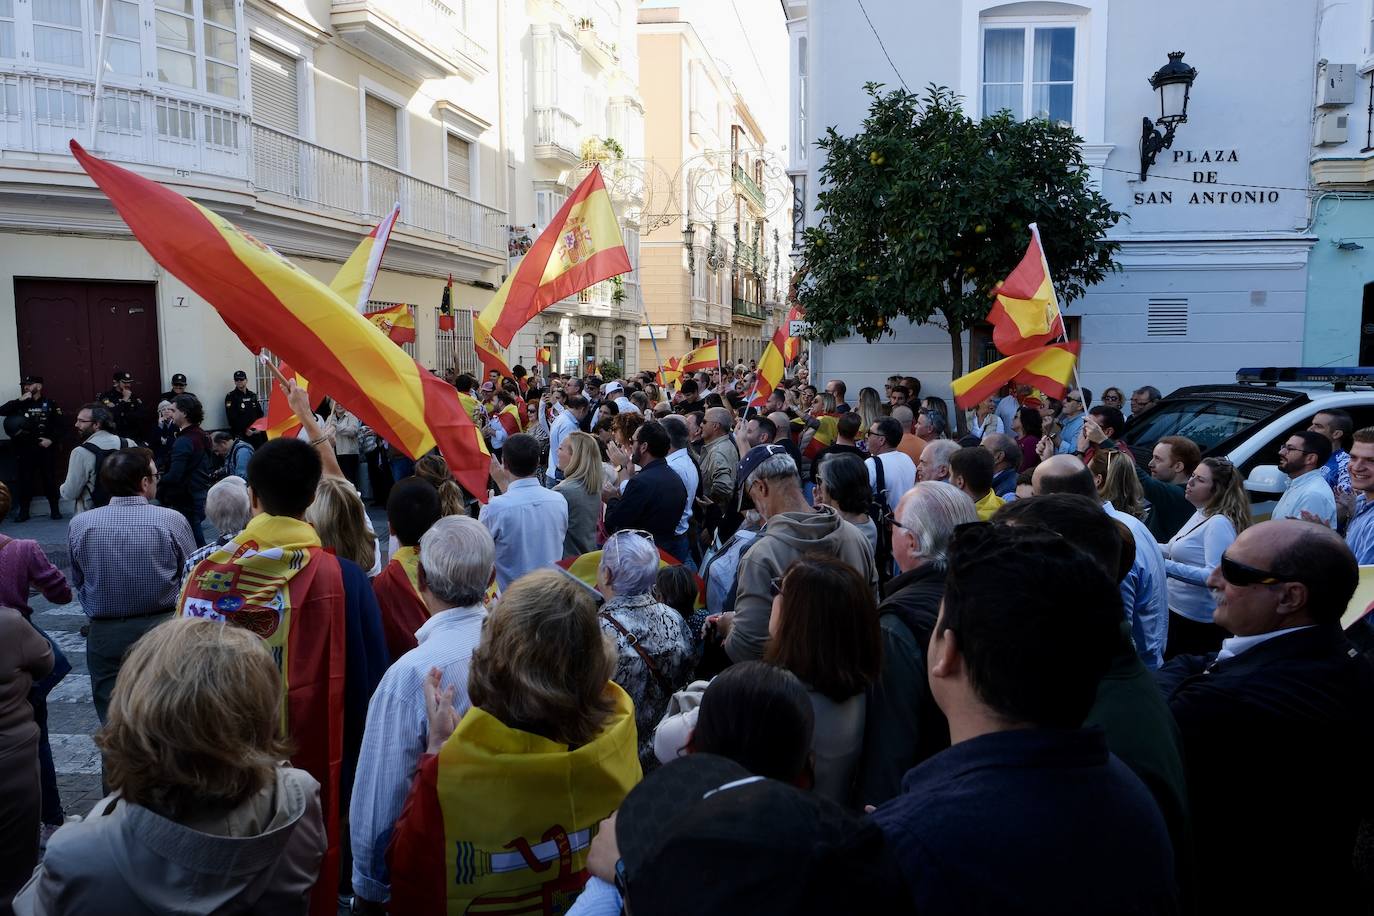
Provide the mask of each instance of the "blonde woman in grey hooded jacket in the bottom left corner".
[{"label": "blonde woman in grey hooded jacket in the bottom left corner", "polygon": [[282,762],[282,680],[254,633],[176,618],[133,644],[96,735],[113,790],[52,835],[23,913],[305,913],[320,786]]}]

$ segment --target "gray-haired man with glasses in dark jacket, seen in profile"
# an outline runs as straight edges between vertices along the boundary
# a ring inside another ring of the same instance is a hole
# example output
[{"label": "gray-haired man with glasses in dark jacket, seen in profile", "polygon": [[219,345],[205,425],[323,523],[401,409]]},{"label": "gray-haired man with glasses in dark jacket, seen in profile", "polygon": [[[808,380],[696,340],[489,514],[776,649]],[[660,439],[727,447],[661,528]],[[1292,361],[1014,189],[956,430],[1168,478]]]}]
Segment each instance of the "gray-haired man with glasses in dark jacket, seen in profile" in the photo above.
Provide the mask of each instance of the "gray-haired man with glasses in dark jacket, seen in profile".
[{"label": "gray-haired man with glasses in dark jacket, seen in profile", "polygon": [[949,746],[949,725],[926,680],[926,645],[944,599],[949,538],[977,520],[973,499],[940,481],[916,483],[897,504],[892,555],[901,573],[878,606],[882,673],[868,692],[857,772],[861,805],[896,798],[908,769]]}]

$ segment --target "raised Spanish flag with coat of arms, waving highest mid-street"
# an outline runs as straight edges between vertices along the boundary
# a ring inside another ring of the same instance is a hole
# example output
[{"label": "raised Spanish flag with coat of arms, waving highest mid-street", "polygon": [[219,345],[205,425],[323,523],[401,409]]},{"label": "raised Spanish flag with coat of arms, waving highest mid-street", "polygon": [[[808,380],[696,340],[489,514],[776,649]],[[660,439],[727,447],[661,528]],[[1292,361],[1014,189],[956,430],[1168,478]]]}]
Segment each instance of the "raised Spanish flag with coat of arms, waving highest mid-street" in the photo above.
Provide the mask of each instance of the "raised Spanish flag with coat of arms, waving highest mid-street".
[{"label": "raised Spanish flag with coat of arms, waving highest mid-street", "polygon": [[493,341],[510,346],[548,306],[629,269],[620,222],[595,166],[482,309],[482,324]]}]

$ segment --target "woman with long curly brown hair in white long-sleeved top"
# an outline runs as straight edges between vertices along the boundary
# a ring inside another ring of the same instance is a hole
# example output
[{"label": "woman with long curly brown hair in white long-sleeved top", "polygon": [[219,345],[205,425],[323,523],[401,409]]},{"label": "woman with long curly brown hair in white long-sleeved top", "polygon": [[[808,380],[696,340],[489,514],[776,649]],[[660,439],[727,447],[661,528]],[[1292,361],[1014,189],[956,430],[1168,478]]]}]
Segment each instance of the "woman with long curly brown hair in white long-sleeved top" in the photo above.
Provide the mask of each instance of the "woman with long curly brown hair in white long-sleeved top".
[{"label": "woman with long curly brown hair in white long-sleeved top", "polygon": [[1202,459],[1184,494],[1197,512],[1164,545],[1164,566],[1169,574],[1167,659],[1215,652],[1230,636],[1212,622],[1216,599],[1206,580],[1235,536],[1250,525],[1250,500],[1241,472],[1226,459]]}]

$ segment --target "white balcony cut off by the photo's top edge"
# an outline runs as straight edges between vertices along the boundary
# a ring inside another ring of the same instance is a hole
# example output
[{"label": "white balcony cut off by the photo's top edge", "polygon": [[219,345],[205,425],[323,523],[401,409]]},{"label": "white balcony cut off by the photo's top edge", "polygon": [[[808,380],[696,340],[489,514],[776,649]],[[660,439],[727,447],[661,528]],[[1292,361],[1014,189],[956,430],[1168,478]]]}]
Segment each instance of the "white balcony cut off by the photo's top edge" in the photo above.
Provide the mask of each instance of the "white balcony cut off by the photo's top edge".
[{"label": "white balcony cut off by the photo's top edge", "polygon": [[334,0],[330,25],[344,41],[415,80],[486,73],[486,48],[444,0]]}]

